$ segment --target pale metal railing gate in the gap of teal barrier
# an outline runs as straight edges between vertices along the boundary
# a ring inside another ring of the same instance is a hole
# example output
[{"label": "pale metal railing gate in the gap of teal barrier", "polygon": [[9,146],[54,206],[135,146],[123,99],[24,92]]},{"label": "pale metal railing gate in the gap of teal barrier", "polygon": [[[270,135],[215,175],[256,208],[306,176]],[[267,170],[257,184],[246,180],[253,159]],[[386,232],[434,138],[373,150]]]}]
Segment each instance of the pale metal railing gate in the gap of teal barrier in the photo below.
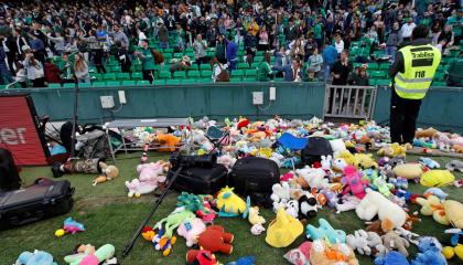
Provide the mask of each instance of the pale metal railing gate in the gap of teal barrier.
[{"label": "pale metal railing gate in the gap of teal barrier", "polygon": [[375,86],[326,85],[324,117],[370,119],[375,100]]}]

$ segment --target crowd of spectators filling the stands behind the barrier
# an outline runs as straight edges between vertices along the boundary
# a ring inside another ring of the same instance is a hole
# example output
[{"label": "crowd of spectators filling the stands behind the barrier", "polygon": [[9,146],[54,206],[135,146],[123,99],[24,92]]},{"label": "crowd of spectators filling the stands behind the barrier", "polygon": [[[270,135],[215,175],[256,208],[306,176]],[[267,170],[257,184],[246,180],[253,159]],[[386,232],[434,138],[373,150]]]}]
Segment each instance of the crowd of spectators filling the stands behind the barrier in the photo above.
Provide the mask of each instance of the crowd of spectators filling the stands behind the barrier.
[{"label": "crowd of spectators filling the stands behind the barrier", "polygon": [[[372,56],[375,49],[385,51],[381,60],[394,61],[417,24],[431,29],[429,39],[444,55],[459,49],[462,38],[457,0],[11,0],[0,4],[0,84],[17,82],[23,87],[88,83],[90,67],[107,72],[109,55],[125,73],[131,73],[138,60],[150,82],[164,63],[172,73],[211,63],[215,82],[222,71],[233,72],[245,62],[258,63],[258,81],[368,85],[368,72],[364,66],[353,68],[354,61],[378,60]],[[159,44],[153,49],[150,40]],[[353,42],[366,51],[349,60]],[[168,47],[177,53],[192,47],[194,57],[164,62]],[[207,56],[209,47],[215,47],[214,59]],[[265,56],[255,62],[258,51]],[[56,56],[60,65],[51,60]]]}]

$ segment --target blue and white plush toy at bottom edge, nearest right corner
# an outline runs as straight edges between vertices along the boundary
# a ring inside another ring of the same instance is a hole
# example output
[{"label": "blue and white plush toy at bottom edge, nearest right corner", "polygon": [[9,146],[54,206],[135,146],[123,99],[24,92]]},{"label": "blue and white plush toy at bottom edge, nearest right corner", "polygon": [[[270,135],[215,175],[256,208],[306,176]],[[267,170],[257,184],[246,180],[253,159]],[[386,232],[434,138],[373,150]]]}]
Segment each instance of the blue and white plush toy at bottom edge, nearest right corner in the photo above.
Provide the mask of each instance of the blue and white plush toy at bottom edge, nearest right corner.
[{"label": "blue and white plush toy at bottom edge, nearest right corner", "polygon": [[411,265],[445,265],[446,259],[442,255],[442,245],[435,237],[427,236],[418,244],[417,257],[411,261]]}]

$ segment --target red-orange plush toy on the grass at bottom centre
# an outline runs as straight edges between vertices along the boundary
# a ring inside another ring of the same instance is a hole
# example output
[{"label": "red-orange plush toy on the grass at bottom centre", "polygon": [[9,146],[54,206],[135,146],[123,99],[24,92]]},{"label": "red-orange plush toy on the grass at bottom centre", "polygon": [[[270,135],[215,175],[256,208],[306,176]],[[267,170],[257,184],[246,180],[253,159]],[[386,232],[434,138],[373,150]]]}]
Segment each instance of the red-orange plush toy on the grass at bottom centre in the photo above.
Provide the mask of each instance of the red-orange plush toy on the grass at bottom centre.
[{"label": "red-orange plush toy on the grass at bottom centre", "polygon": [[200,234],[197,244],[206,251],[212,253],[222,252],[224,254],[232,254],[234,235],[225,233],[220,225],[211,225]]}]

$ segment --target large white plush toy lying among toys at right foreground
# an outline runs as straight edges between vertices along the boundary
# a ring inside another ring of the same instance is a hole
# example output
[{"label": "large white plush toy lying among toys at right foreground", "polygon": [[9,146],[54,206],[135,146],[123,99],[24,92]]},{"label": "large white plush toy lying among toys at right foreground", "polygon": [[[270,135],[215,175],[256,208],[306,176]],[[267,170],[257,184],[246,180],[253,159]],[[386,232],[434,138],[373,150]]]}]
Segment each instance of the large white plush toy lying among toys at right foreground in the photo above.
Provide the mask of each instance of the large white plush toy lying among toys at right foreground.
[{"label": "large white plush toy lying among toys at right foreground", "polygon": [[402,208],[389,201],[381,193],[372,189],[366,190],[366,195],[355,209],[357,216],[370,221],[378,214],[379,220],[389,219],[395,227],[401,227],[407,219]]}]

